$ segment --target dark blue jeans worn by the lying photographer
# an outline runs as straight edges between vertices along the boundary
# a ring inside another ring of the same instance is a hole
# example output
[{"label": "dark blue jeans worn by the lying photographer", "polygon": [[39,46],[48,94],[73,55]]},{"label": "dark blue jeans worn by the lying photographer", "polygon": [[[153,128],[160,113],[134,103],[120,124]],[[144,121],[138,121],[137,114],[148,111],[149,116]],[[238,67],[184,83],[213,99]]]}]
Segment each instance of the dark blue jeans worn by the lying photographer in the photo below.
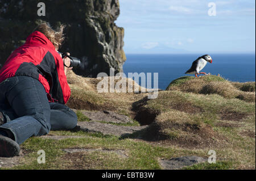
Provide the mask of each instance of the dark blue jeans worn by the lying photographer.
[{"label": "dark blue jeans worn by the lying photographer", "polygon": [[26,76],[0,83],[0,111],[6,120],[0,131],[11,132],[18,144],[31,136],[72,129],[77,124],[75,112],[63,104],[49,103],[42,83]]}]

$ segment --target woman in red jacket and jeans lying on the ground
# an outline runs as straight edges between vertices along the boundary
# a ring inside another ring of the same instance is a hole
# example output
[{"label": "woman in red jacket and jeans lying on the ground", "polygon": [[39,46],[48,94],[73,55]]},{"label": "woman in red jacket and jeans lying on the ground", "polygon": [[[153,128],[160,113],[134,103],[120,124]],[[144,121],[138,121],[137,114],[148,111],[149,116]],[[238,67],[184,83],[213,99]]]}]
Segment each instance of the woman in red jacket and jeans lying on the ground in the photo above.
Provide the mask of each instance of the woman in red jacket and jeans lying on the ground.
[{"label": "woman in red jacket and jeans lying on the ground", "polygon": [[57,52],[63,30],[40,24],[0,70],[0,157],[19,155],[31,136],[76,127],[76,113],[64,105],[71,94],[65,74],[72,68]]}]

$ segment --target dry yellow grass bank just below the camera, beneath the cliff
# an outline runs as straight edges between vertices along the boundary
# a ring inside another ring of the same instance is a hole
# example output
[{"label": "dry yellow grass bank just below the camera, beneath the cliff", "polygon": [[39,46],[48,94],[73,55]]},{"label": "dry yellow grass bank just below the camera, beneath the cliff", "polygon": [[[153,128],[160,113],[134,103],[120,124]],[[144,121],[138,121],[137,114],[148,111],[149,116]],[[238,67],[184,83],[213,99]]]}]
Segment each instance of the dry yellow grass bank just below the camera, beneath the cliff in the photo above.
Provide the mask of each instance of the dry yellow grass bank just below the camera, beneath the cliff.
[{"label": "dry yellow grass bank just below the camera, beneath the cliff", "polygon": [[[108,77],[108,87],[110,87],[110,79]],[[71,87],[71,98],[68,101],[68,106],[71,108],[84,110],[115,110],[117,112],[130,112],[133,102],[142,99],[148,93],[141,93],[143,89],[132,79],[125,78],[126,92],[101,92],[97,91],[97,85],[101,79],[84,78],[76,75],[73,71],[68,71],[67,79],[69,87]],[[114,85],[119,81],[113,79]],[[130,83],[129,83],[130,82]],[[138,87],[139,92],[127,92],[128,86],[130,90],[135,90]]]}]

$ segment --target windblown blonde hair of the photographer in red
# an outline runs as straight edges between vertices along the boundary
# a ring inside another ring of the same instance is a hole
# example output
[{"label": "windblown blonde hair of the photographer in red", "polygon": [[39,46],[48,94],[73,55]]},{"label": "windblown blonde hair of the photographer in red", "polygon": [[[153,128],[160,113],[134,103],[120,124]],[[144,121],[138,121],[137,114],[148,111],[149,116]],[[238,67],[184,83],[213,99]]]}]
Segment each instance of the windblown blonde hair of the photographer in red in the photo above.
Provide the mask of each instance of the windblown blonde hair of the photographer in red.
[{"label": "windblown blonde hair of the photographer in red", "polygon": [[49,23],[41,23],[38,27],[35,28],[34,31],[39,31],[43,33],[55,46],[55,48],[59,48],[62,45],[65,37],[63,34],[63,30],[65,28],[64,24],[61,24],[57,30],[53,30]]}]

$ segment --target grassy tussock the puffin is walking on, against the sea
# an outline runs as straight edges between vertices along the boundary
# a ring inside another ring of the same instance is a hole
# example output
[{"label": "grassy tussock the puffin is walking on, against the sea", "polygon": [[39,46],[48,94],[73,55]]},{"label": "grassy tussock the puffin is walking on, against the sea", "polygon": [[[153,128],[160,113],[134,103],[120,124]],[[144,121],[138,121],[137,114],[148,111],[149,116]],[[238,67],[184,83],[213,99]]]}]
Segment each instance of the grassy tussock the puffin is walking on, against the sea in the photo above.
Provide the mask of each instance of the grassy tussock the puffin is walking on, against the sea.
[{"label": "grassy tussock the puffin is walking on, against the sea", "polygon": [[255,82],[232,83],[216,75],[199,78],[187,76],[170,83],[167,90],[193,92],[195,94],[218,94],[228,99],[255,102]]}]

